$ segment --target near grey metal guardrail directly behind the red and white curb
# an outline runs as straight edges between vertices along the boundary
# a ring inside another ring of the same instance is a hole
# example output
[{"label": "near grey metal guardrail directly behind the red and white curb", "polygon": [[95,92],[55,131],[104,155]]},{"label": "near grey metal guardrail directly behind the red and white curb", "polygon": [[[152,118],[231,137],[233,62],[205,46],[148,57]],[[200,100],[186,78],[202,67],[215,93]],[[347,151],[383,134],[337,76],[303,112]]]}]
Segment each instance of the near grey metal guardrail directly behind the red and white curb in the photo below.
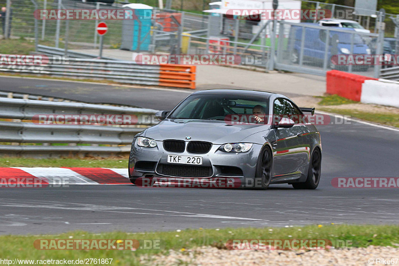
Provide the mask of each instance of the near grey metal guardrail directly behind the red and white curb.
[{"label": "near grey metal guardrail directly behind the red and white curb", "polygon": [[[145,127],[157,124],[149,115],[157,110],[133,107],[115,107],[86,103],[49,102],[39,100],[0,98],[0,142],[18,145],[0,145],[0,154],[21,155],[32,153],[34,156],[52,157],[65,154],[109,154],[130,151],[135,134]],[[137,124],[133,126],[85,125],[85,124],[39,124],[31,120],[37,115],[137,115]],[[22,121],[23,122],[22,122]],[[24,122],[29,120],[29,122]],[[20,145],[22,143],[43,145]],[[68,146],[51,146],[68,144]],[[79,145],[80,144],[80,145]],[[91,144],[91,146],[81,146]],[[99,145],[114,146],[99,146]],[[123,145],[123,146],[115,146]]]}]

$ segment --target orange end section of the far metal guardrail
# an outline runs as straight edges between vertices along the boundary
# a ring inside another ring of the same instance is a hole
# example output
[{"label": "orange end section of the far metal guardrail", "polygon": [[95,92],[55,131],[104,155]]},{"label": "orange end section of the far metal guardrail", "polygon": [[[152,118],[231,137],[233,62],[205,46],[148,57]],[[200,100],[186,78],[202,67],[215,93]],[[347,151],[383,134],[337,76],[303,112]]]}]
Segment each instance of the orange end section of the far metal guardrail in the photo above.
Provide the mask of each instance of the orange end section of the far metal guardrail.
[{"label": "orange end section of the far metal guardrail", "polygon": [[195,89],[196,70],[196,66],[163,64],[160,67],[159,85]]}]

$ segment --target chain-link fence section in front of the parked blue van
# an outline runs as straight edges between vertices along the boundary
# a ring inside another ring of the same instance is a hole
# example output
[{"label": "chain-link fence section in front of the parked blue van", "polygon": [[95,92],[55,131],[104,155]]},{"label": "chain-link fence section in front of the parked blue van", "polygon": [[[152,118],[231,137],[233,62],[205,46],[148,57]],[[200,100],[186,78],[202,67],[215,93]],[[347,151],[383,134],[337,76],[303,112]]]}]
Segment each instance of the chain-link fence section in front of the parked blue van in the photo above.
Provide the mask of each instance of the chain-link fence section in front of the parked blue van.
[{"label": "chain-link fence section in front of the parked blue van", "polygon": [[375,33],[281,21],[275,67],[313,74],[337,69],[378,77],[378,65],[360,60],[382,53],[379,38]]}]

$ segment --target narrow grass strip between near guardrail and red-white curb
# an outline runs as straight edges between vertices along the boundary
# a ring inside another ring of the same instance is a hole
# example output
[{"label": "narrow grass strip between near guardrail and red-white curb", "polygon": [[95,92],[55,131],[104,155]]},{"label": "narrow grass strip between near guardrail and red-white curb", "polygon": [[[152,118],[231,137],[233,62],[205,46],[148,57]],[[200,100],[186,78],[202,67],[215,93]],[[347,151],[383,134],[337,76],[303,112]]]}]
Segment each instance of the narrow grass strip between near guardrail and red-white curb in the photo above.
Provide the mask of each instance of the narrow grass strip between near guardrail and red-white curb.
[{"label": "narrow grass strip between near guardrail and red-white curb", "polygon": [[[19,157],[0,157],[0,167],[103,167],[128,168],[128,156],[32,159]],[[1,258],[1,257],[0,257]]]}]

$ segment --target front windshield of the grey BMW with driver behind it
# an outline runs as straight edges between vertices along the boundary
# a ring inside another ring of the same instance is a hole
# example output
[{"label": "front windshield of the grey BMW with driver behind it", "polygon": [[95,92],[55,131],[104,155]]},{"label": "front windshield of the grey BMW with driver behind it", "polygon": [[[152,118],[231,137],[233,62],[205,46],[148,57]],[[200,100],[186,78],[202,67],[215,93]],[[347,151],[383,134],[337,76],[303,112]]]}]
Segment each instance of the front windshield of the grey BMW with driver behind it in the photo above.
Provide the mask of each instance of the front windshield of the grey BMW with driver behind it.
[{"label": "front windshield of the grey BMW with driver behind it", "polygon": [[174,110],[171,119],[225,120],[229,115],[252,115],[257,106],[268,114],[268,100],[259,96],[192,95]]}]

